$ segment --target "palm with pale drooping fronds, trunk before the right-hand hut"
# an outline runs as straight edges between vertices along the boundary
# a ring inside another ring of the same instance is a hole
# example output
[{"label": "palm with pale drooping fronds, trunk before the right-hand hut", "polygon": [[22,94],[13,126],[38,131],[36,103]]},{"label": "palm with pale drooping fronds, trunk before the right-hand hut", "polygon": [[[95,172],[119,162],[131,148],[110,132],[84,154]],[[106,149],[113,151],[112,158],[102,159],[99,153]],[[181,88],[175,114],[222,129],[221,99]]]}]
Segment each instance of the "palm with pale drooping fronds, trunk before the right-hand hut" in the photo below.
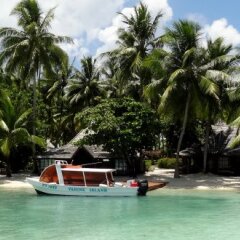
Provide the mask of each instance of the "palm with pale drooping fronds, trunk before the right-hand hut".
[{"label": "palm with pale drooping fronds, trunk before the right-hand hut", "polygon": [[205,78],[213,81],[218,86],[218,96],[204,96],[202,99],[202,119],[205,120],[205,140],[204,140],[204,158],[203,172],[207,172],[207,153],[208,141],[211,124],[224,119],[226,110],[229,108],[228,87],[231,84],[232,73],[239,71],[236,65],[239,61],[237,55],[231,55],[232,45],[225,45],[222,38],[215,41],[209,40],[207,48],[203,49],[203,59],[205,64],[201,69],[205,71]]}]

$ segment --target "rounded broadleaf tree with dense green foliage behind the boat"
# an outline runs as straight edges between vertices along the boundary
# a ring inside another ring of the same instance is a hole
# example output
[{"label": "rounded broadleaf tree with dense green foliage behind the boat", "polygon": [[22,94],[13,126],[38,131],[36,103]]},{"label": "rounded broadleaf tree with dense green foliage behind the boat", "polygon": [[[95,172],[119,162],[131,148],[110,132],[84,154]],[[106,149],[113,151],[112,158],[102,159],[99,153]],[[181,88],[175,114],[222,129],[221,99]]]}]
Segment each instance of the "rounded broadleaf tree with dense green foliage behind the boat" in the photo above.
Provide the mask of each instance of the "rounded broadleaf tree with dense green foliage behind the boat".
[{"label": "rounded broadleaf tree with dense green foliage behind the boat", "polygon": [[151,108],[130,98],[103,100],[78,114],[76,120],[90,131],[83,143],[102,145],[126,159],[132,175],[140,169],[143,150],[154,147],[159,129]]}]

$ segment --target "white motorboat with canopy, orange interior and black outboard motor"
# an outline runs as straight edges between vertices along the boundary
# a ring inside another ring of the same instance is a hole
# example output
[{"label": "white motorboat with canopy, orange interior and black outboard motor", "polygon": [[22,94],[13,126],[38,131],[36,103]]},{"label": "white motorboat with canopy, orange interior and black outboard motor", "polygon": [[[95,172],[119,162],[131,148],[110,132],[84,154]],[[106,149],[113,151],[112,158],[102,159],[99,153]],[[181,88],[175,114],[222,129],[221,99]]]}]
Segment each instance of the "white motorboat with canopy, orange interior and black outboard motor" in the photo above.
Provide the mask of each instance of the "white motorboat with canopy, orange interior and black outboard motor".
[{"label": "white motorboat with canopy, orange interior and black outboard motor", "polygon": [[44,169],[39,178],[27,181],[39,194],[69,196],[144,196],[148,190],[147,180],[115,182],[115,169],[86,168],[66,161],[56,160]]}]

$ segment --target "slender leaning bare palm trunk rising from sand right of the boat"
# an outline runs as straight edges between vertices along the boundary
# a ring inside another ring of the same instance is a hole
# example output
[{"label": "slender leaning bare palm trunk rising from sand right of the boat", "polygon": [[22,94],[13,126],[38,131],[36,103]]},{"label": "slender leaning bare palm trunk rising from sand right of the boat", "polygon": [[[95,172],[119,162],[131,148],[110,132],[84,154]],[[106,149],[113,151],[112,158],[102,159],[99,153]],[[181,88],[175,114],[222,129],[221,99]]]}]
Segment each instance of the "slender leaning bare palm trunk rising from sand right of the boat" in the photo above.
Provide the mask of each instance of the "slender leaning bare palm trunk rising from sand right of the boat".
[{"label": "slender leaning bare palm trunk rising from sand right of the boat", "polygon": [[183,126],[181,130],[181,134],[178,140],[178,145],[177,145],[177,156],[176,156],[176,167],[175,167],[175,172],[174,172],[174,178],[179,178],[179,152],[182,146],[182,140],[183,136],[185,134],[186,126],[187,126],[187,120],[188,120],[188,112],[189,112],[189,105],[190,105],[190,100],[191,100],[191,94],[190,91],[188,92],[187,96],[187,102],[185,106],[185,112],[184,112],[184,119],[183,119]]}]

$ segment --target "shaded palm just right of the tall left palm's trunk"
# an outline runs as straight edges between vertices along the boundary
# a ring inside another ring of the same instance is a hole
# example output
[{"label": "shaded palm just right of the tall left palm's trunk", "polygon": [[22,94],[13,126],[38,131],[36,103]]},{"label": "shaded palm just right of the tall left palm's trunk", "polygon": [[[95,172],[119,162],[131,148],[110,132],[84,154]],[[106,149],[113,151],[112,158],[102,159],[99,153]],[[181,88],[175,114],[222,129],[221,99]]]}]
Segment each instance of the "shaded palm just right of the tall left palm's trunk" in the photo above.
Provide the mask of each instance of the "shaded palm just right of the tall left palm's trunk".
[{"label": "shaded palm just right of the tall left palm's trunk", "polygon": [[47,108],[45,123],[47,123],[48,128],[46,133],[47,137],[56,144],[60,143],[59,140],[64,142],[64,139],[66,139],[64,136],[68,132],[63,122],[65,122],[66,115],[69,115],[71,107],[64,99],[64,88],[67,81],[75,77],[77,70],[73,63],[70,65],[66,56],[59,65],[54,67],[53,72],[46,73],[45,78],[41,79],[41,92],[47,95],[43,98],[44,105]]}]

